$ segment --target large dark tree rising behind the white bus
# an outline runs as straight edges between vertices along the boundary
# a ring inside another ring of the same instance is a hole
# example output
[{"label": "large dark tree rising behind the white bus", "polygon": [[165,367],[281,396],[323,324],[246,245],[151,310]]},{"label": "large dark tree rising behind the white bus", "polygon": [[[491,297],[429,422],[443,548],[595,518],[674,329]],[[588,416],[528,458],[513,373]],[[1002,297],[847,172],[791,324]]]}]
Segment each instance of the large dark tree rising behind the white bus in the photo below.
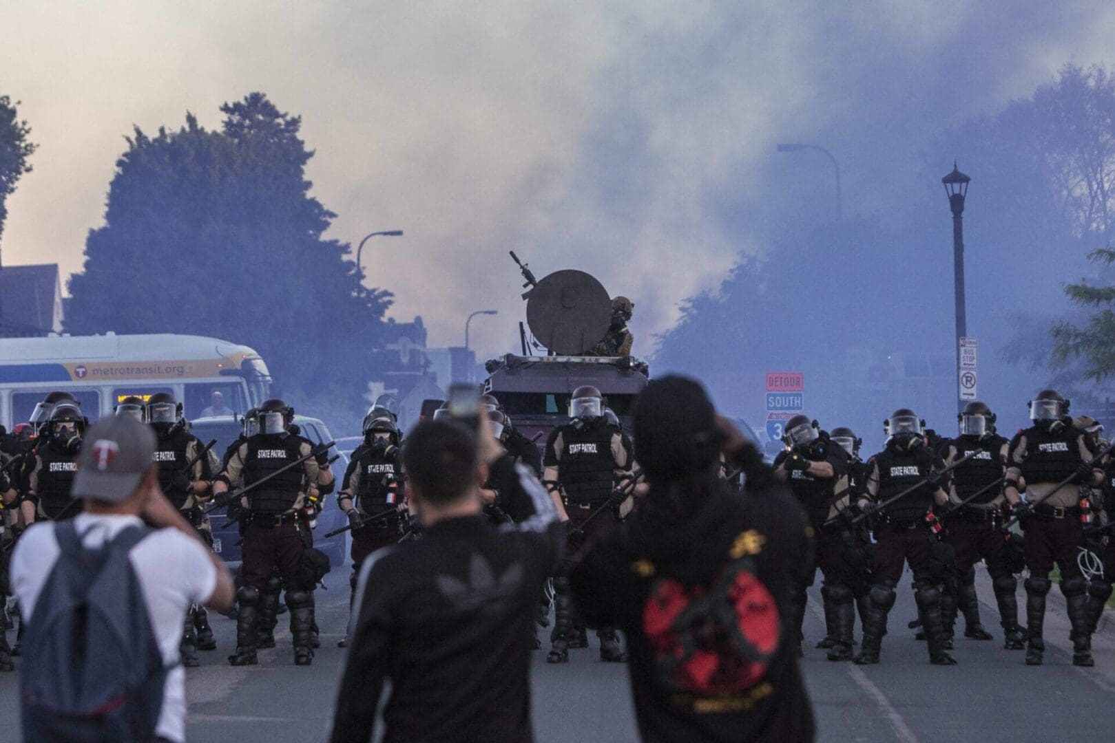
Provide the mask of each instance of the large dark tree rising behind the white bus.
[{"label": "large dark tree rising behind the white bus", "polygon": [[358,404],[390,293],[363,287],[348,245],[322,237],[334,215],[310,195],[300,118],[259,92],[221,110],[220,131],[187,114],[177,131],[127,139],[69,282],[67,330],[225,338],[285,389],[339,382]]}]

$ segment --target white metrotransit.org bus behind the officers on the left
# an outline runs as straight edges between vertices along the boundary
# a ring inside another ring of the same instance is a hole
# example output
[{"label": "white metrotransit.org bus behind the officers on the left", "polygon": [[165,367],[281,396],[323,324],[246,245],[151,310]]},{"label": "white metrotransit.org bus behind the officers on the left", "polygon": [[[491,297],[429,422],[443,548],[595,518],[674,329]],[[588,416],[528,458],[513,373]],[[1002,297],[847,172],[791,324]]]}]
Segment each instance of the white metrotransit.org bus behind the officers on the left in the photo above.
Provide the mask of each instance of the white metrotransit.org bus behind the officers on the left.
[{"label": "white metrotransit.org bus behind the officers on the left", "polygon": [[269,397],[271,374],[254,350],[201,335],[62,335],[0,339],[0,423],[27,421],[54,390],[69,392],[91,421],[128,395],[169,392],[186,418],[212,414],[214,392],[232,413]]}]

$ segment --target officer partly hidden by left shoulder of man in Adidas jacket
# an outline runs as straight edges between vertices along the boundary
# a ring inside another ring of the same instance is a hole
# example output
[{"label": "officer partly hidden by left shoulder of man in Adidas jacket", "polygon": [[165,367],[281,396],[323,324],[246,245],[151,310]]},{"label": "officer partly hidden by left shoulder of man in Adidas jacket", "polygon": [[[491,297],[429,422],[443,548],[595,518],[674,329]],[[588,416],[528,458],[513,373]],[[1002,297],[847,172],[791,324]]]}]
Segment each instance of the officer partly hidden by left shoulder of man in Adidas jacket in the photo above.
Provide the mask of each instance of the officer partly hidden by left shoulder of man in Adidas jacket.
[{"label": "officer partly hidden by left shoulder of man in Adidas jacket", "polygon": [[[399,429],[389,417],[372,418],[370,410],[361,429],[363,448],[349,462],[345,487],[337,493],[337,506],[352,526],[352,574],[349,576],[349,605],[363,560],[381,547],[389,547],[401,535],[401,510],[406,507],[399,457]],[[346,647],[348,637],[337,643]]]}]

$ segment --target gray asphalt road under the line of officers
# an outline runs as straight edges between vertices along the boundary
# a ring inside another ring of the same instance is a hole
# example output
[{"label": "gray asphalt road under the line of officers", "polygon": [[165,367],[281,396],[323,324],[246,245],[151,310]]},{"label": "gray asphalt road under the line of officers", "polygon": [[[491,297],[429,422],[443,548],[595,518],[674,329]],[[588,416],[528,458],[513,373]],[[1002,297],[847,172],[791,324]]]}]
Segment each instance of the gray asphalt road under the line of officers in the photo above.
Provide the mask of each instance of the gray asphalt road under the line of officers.
[{"label": "gray asphalt road under the line of officers", "polygon": [[[915,615],[909,576],[891,613],[880,665],[831,663],[809,643],[803,665],[818,740],[1025,743],[1112,737],[1115,619],[1105,619],[1095,638],[1096,667],[1076,668],[1064,602],[1054,589],[1046,619],[1046,665],[1028,667],[1022,653],[1002,649],[990,584],[980,576],[983,622],[997,639],[958,639],[957,666],[929,665],[924,643],[905,628]],[[336,642],[348,614],[347,576],[334,570],[328,584],[330,590],[318,594],[322,647],[310,667],[293,665],[285,629],[275,649],[261,652],[260,665],[231,667],[225,656],[233,645],[234,623],[215,617],[220,649],[203,653],[202,667],[188,672],[191,741],[304,743],[324,737],[342,653]],[[815,592],[805,632],[815,642],[823,634]],[[565,666],[546,665],[537,655],[532,686],[541,743],[636,740],[627,667],[601,663],[595,638],[590,644],[591,649],[573,651]],[[16,694],[17,675],[0,674],[0,741],[16,740],[3,732],[7,721],[18,720]]]}]

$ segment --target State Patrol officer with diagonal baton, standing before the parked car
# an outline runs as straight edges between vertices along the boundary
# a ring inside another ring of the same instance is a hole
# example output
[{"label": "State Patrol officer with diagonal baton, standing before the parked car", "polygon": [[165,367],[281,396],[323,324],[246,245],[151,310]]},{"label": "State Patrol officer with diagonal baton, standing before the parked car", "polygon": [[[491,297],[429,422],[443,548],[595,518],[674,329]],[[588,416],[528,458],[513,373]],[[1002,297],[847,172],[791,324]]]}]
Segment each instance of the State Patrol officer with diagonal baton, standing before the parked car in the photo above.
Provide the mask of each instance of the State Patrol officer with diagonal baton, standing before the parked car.
[{"label": "State Patrol officer with diagonal baton, standing before the parked car", "polygon": [[261,625],[266,627],[266,617],[260,616],[260,608],[275,576],[287,588],[294,663],[313,662],[312,585],[306,585],[299,575],[304,550],[300,532],[304,527],[299,511],[306,489],[322,479],[331,482],[332,473],[319,479],[320,471],[328,469],[328,452],[314,451],[313,444],[288,431],[293,417],[294,410],[282,400],[261,404],[259,432],[240,444],[224,473],[213,482],[217,502],[227,502],[227,496],[222,495],[231,488],[248,489],[239,502],[231,504],[233,509],[243,509],[245,524],[243,586],[236,594],[236,653],[229,658],[233,665],[258,663],[258,629]]}]

